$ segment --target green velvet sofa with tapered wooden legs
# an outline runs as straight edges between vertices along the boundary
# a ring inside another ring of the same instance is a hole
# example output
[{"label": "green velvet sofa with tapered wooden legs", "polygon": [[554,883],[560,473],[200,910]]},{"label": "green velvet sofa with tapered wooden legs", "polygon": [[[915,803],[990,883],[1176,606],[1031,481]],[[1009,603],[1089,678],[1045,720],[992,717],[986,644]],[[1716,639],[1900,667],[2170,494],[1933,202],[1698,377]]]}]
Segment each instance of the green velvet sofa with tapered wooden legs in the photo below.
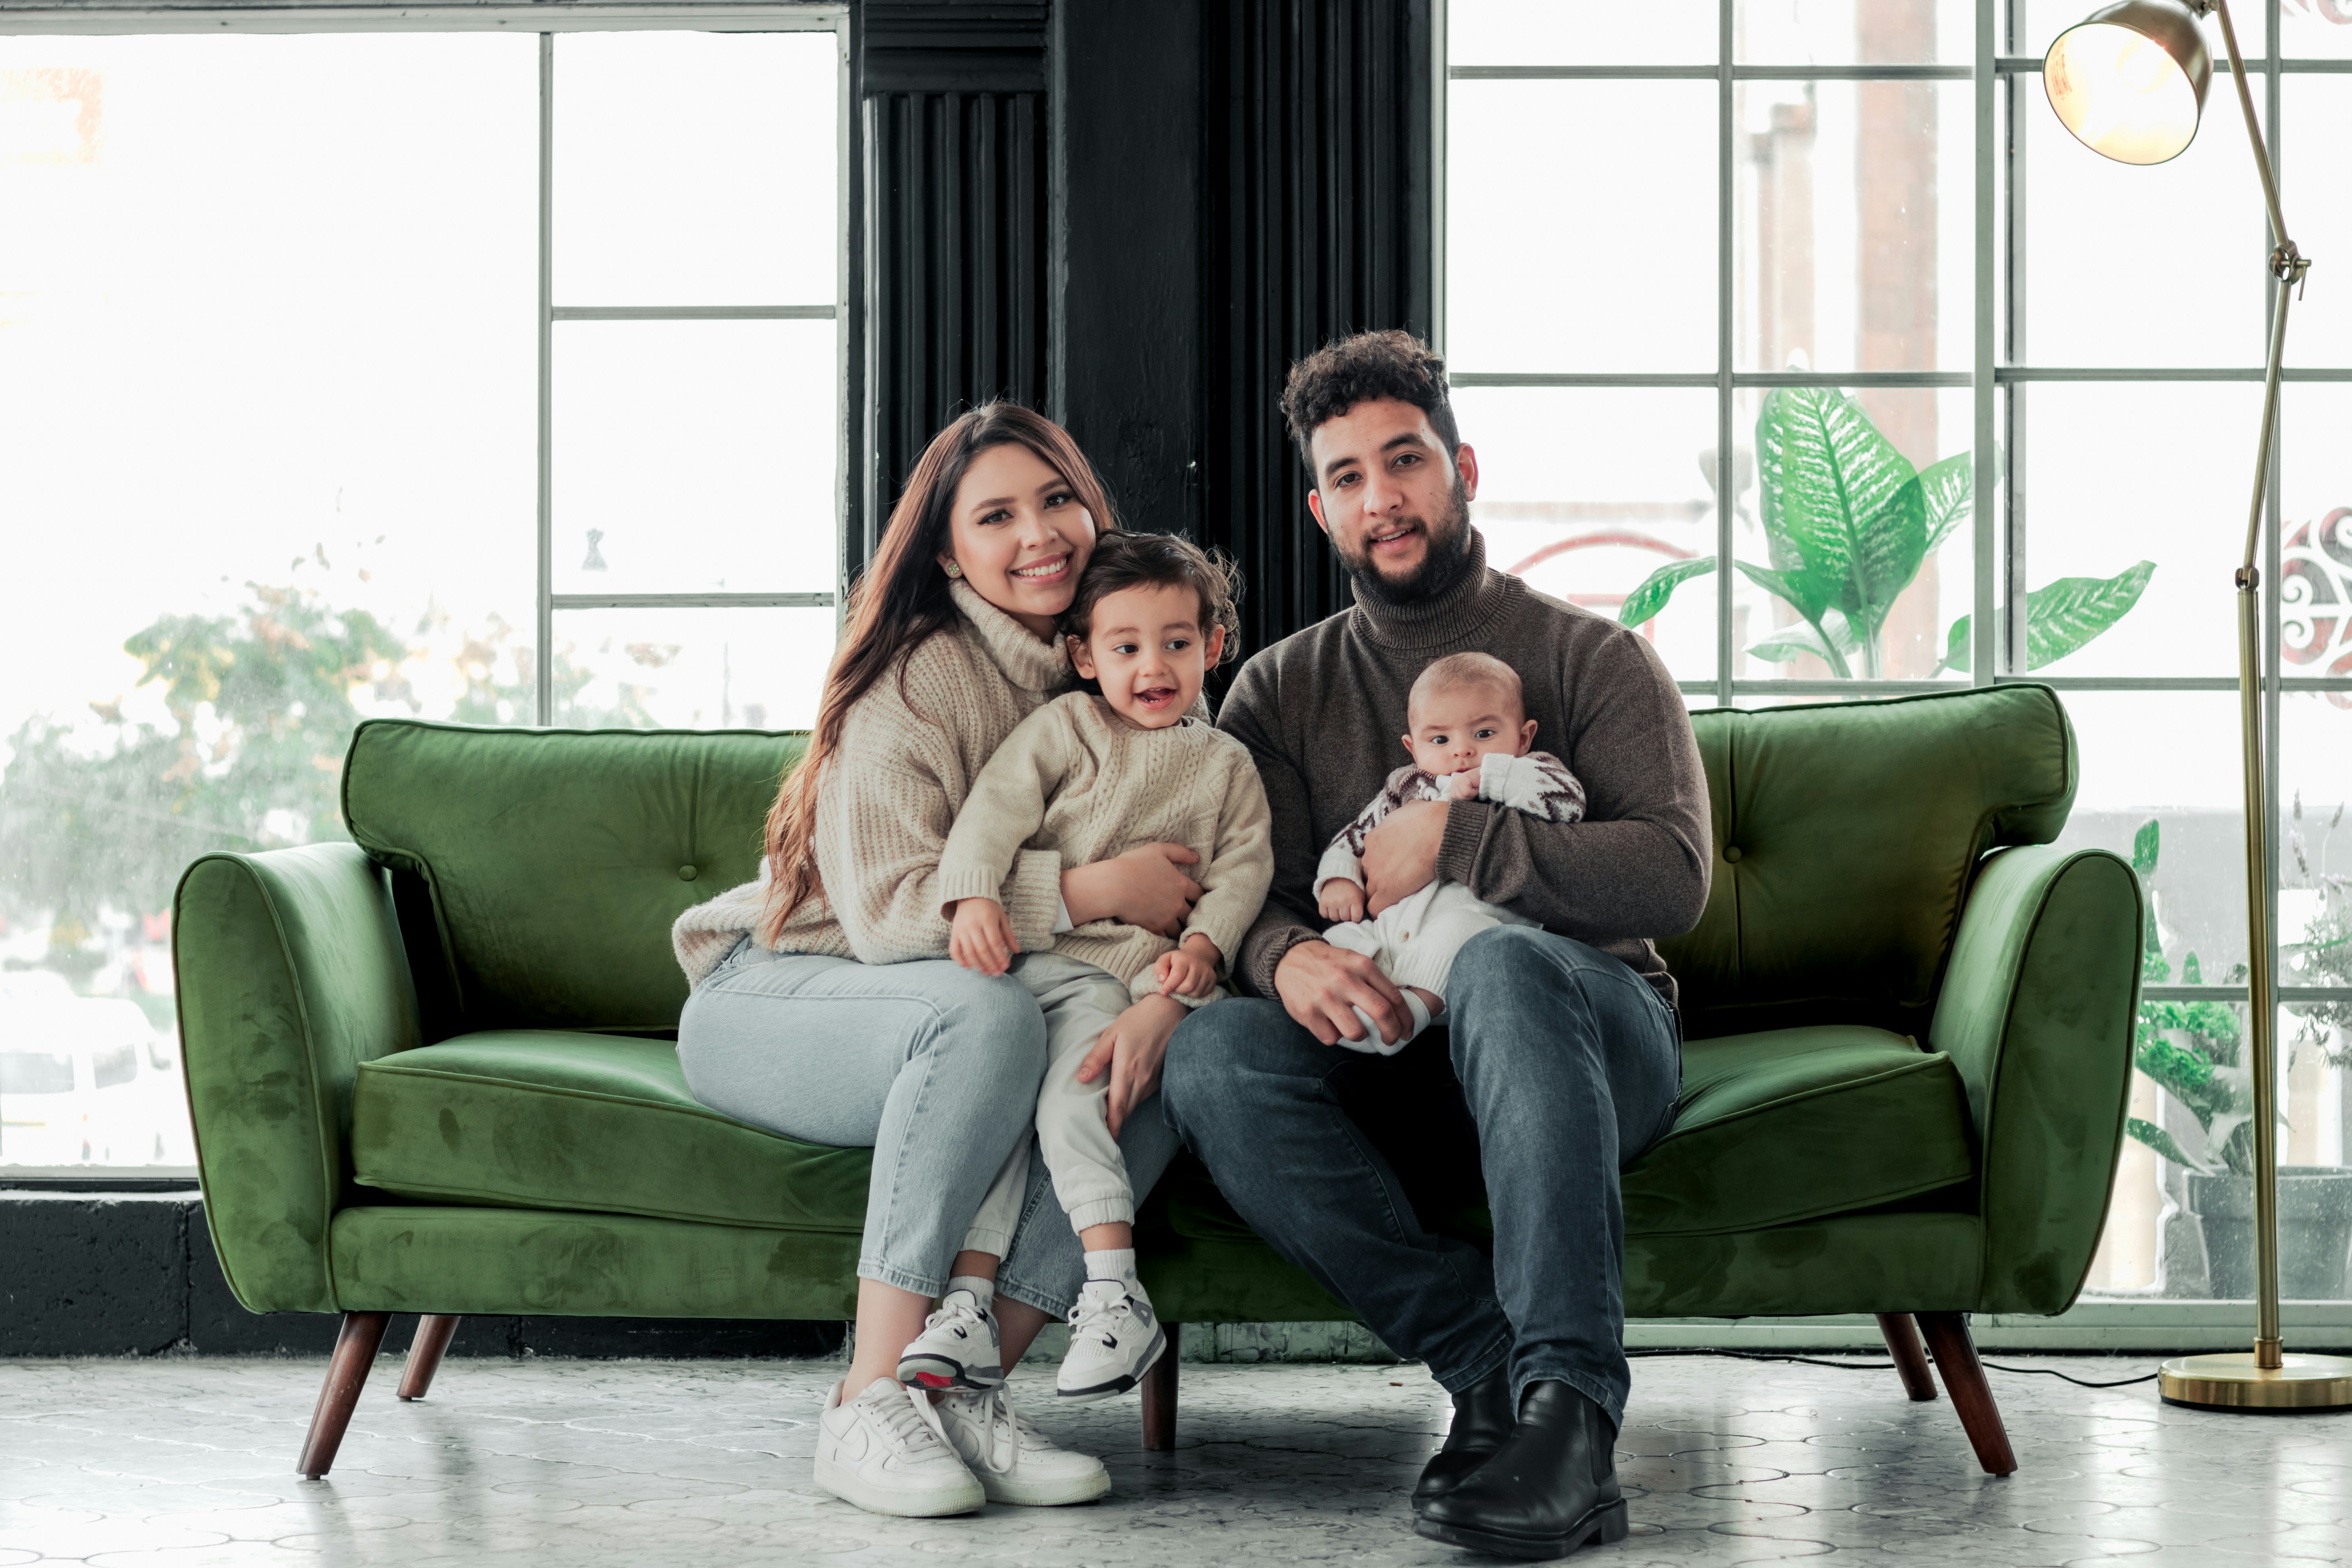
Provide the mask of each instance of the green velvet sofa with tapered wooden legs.
[{"label": "green velvet sofa with tapered wooden legs", "polygon": [[[2058,851],[2074,738],[2013,684],[1693,715],[1715,886],[1682,980],[1675,1131],[1625,1173],[1632,1316],[1912,1324],[2013,1469],[1969,1312],[2065,1309],[2107,1206],[2140,889]],[[339,1312],[322,1474],[383,1338],[405,1396],[468,1312],[842,1319],[866,1150],[687,1093],[670,919],[755,872],[797,736],[369,722],[353,844],[188,867],[174,943],[205,1213],[254,1312]],[[1406,1171],[1406,1175],[1411,1175]],[[1477,1234],[1475,1201],[1430,1213]],[[1167,1321],[1345,1319],[1190,1161],[1138,1225]],[[1176,1359],[1145,1385],[1174,1441]]]}]

